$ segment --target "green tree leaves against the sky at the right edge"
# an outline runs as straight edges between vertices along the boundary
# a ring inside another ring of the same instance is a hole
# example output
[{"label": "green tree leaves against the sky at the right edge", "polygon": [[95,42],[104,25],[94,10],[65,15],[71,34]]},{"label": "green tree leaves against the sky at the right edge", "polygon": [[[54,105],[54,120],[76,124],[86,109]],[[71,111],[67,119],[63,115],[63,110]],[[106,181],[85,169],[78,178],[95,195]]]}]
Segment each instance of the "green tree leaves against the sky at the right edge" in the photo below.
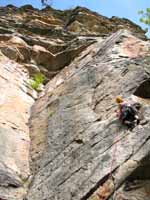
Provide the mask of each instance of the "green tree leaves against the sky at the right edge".
[{"label": "green tree leaves against the sky at the right edge", "polygon": [[140,22],[147,26],[146,31],[148,31],[150,28],[150,8],[146,8],[145,11],[139,10],[138,14],[141,15]]}]

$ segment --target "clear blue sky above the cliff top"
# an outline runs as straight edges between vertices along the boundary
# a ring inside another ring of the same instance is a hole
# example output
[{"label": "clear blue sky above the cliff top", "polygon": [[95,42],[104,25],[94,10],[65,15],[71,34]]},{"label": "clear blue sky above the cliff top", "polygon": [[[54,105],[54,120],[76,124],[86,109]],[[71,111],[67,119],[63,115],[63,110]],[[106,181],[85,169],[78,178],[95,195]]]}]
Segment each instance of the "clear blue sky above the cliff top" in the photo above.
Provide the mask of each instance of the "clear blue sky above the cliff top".
[{"label": "clear blue sky above the cliff top", "polygon": [[[49,0],[51,1],[51,0]],[[75,6],[84,6],[101,15],[111,17],[124,17],[145,28],[139,22],[138,10],[150,7],[150,0],[52,0],[52,6],[56,9],[69,9]],[[42,8],[40,0],[0,0],[0,6],[13,4],[21,6],[32,4],[36,8]]]}]

